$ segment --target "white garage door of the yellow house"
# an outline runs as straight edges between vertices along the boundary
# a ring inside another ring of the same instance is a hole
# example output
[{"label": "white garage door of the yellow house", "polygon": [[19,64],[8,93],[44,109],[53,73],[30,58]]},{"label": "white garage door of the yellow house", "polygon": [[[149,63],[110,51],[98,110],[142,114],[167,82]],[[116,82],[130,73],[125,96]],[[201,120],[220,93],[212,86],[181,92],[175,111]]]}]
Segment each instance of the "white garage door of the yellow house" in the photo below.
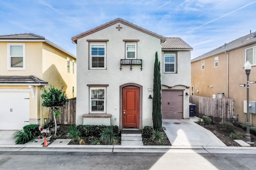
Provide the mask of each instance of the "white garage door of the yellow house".
[{"label": "white garage door of the yellow house", "polygon": [[19,130],[29,124],[29,92],[0,91],[0,130]]}]

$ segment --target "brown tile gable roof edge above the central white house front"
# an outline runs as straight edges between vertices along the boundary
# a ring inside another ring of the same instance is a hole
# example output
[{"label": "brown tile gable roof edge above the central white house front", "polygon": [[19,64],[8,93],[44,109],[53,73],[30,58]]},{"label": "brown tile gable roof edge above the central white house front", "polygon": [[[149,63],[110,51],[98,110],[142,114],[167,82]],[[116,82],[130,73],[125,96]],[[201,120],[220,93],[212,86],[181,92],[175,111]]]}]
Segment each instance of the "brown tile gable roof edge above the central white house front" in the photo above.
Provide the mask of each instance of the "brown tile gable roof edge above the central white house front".
[{"label": "brown tile gable roof edge above the central white house front", "polygon": [[123,19],[121,19],[121,18],[116,18],[115,20],[112,20],[112,21],[110,21],[110,22],[107,22],[107,23],[105,23],[105,24],[102,24],[102,25],[100,25],[100,26],[98,26],[98,27],[96,27],[96,28],[93,28],[93,29],[91,29],[91,30],[88,30],[88,31],[86,31],[86,32],[83,32],[83,33],[81,33],[81,34],[78,34],[77,36],[72,37],[71,40],[76,43],[79,38],[82,38],[82,37],[84,37],[84,36],[87,36],[87,35],[89,35],[89,34],[92,34],[92,33],[94,33],[94,32],[97,32],[97,31],[99,31],[99,30],[102,30],[102,29],[104,29],[104,28],[106,28],[106,27],[108,27],[108,26],[114,25],[114,24],[116,24],[116,23],[118,23],[118,22],[120,22],[120,23],[122,23],[122,24],[124,24],[124,25],[126,25],[126,26],[130,26],[130,27],[132,27],[132,28],[134,28],[134,29],[136,29],[136,30],[139,30],[139,31],[141,31],[141,32],[144,32],[144,33],[146,33],[146,34],[149,34],[149,35],[151,35],[151,36],[154,36],[154,37],[156,37],[156,38],[159,38],[159,39],[161,39],[161,40],[165,40],[165,39],[166,39],[166,37],[164,37],[164,36],[161,36],[161,35],[159,35],[159,34],[156,34],[156,33],[152,32],[152,31],[146,30],[146,29],[144,29],[144,28],[142,28],[142,27],[140,27],[140,26],[137,26],[137,25],[135,25],[135,24],[132,24],[131,22],[128,22],[128,21],[123,20]]}]

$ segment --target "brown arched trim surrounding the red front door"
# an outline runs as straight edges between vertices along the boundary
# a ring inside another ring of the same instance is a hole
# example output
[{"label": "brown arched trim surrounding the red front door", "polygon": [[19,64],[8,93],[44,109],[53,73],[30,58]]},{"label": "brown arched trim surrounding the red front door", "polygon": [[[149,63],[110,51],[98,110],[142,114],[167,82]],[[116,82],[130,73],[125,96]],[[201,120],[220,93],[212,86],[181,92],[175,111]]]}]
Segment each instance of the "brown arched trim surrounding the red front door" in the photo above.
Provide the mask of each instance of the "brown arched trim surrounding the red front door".
[{"label": "brown arched trim surrounding the red front door", "polygon": [[138,128],[142,129],[142,90],[143,87],[142,85],[136,84],[136,83],[125,83],[123,85],[120,85],[119,87],[119,128],[122,129],[123,128],[123,120],[122,120],[122,110],[123,110],[123,88],[124,87],[138,87],[139,88],[139,120],[138,120]]}]

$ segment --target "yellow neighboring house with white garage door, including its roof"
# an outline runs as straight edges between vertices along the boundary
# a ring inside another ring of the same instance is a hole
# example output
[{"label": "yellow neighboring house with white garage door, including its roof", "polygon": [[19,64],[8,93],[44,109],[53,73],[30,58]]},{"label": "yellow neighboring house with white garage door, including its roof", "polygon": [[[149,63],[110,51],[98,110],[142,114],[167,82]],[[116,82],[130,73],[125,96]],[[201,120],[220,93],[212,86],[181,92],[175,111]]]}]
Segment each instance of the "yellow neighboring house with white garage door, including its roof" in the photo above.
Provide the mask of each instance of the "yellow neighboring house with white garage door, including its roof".
[{"label": "yellow neighboring house with white garage door, including its roof", "polygon": [[0,36],[0,56],[0,130],[44,125],[49,109],[40,95],[47,85],[64,86],[68,98],[76,97],[76,57],[44,37]]}]

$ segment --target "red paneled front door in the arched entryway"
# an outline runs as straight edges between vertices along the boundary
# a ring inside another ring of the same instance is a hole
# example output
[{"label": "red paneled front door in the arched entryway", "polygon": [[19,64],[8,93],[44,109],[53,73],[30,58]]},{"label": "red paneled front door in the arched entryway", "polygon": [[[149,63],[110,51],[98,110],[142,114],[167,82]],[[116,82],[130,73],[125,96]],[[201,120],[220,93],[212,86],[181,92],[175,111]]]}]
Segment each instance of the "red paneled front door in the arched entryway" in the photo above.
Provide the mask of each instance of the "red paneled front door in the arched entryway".
[{"label": "red paneled front door in the arched entryway", "polygon": [[138,127],[138,88],[123,89],[123,126]]}]

